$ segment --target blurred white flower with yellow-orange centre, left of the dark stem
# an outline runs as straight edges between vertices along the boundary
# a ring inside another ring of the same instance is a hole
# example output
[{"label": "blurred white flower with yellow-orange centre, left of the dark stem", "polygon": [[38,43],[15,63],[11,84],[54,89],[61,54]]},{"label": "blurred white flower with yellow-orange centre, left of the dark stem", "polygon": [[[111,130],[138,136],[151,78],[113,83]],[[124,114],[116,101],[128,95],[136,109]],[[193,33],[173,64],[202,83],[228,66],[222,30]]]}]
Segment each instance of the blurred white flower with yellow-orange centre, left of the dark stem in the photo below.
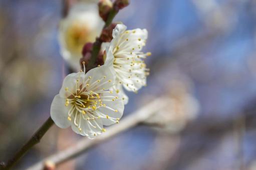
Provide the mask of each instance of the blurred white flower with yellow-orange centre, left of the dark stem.
[{"label": "blurred white flower with yellow-orange centre, left of the dark stem", "polygon": [[79,60],[84,44],[94,42],[96,36],[100,35],[103,25],[96,3],[77,3],[72,6],[68,16],[61,20],[61,54],[73,69],[80,69]]}]

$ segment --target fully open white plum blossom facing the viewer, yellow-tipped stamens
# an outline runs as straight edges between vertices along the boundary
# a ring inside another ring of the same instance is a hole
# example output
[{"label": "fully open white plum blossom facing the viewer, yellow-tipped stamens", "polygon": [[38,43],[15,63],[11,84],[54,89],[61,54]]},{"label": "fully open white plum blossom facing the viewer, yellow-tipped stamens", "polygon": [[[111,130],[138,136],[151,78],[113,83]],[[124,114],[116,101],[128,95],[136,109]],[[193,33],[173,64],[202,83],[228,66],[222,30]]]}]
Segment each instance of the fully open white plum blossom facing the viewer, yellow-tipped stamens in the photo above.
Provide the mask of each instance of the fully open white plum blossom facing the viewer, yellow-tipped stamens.
[{"label": "fully open white plum blossom facing the viewer, yellow-tipped stamens", "polygon": [[118,123],[124,110],[123,100],[110,90],[114,80],[106,65],[67,75],[53,99],[52,119],[59,127],[71,126],[89,138],[106,131],[103,125]]}]

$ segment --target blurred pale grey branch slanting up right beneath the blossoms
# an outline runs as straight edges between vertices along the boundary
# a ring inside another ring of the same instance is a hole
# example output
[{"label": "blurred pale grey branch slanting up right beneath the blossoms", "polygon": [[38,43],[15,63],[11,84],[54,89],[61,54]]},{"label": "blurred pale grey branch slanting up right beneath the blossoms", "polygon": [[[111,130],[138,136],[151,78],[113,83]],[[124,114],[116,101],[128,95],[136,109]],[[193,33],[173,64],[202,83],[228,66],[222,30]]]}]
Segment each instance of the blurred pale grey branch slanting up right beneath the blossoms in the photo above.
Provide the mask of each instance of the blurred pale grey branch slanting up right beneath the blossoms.
[{"label": "blurred pale grey branch slanting up right beneath the blossoms", "polygon": [[159,97],[122,119],[119,124],[111,126],[108,128],[107,132],[101,134],[97,138],[93,140],[87,138],[81,139],[79,142],[77,142],[77,144],[72,145],[65,150],[59,151],[58,153],[55,153],[45,158],[44,160],[30,166],[28,170],[43,169],[44,163],[46,161],[50,161],[58,165],[69,159],[72,159],[89,150],[90,148],[102,143],[103,141],[140,124],[151,115],[153,115],[156,111],[167,106],[168,103],[169,102],[165,97]]}]

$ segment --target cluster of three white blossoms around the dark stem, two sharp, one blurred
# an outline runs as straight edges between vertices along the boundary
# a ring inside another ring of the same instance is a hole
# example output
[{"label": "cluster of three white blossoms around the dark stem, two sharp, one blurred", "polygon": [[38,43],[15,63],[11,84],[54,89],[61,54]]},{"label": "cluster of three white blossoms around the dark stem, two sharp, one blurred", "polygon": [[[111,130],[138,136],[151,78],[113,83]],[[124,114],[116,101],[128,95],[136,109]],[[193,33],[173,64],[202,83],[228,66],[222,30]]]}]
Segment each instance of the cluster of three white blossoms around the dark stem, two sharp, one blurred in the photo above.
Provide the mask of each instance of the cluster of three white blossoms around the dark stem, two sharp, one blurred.
[{"label": "cluster of three white blossoms around the dark stem, two sharp, one blurred", "polygon": [[[79,5],[61,21],[59,34],[61,54],[76,70],[80,69],[81,45],[99,36],[96,27],[104,22],[96,17],[95,4],[90,4],[89,9]],[[102,45],[104,64],[86,71],[83,61],[82,70],[65,77],[51,105],[54,122],[61,128],[71,126],[73,131],[89,138],[105,132],[104,125],[119,123],[128,103],[125,90],[137,92],[146,85],[149,69],[143,59],[150,52],[141,50],[147,36],[146,29],[127,30],[124,24],[116,24],[112,40]]]}]

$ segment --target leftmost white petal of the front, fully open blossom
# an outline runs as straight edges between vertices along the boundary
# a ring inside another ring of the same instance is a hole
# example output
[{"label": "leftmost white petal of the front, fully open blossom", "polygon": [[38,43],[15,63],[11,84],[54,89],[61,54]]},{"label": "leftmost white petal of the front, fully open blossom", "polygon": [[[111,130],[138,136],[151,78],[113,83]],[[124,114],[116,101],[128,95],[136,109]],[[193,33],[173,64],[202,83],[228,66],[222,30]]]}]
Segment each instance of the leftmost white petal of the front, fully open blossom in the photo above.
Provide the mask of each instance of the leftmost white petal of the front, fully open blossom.
[{"label": "leftmost white petal of the front, fully open blossom", "polygon": [[68,120],[68,108],[65,105],[65,99],[61,98],[59,94],[57,94],[51,105],[51,117],[55,124],[61,128],[67,128],[70,126],[70,121]]}]

